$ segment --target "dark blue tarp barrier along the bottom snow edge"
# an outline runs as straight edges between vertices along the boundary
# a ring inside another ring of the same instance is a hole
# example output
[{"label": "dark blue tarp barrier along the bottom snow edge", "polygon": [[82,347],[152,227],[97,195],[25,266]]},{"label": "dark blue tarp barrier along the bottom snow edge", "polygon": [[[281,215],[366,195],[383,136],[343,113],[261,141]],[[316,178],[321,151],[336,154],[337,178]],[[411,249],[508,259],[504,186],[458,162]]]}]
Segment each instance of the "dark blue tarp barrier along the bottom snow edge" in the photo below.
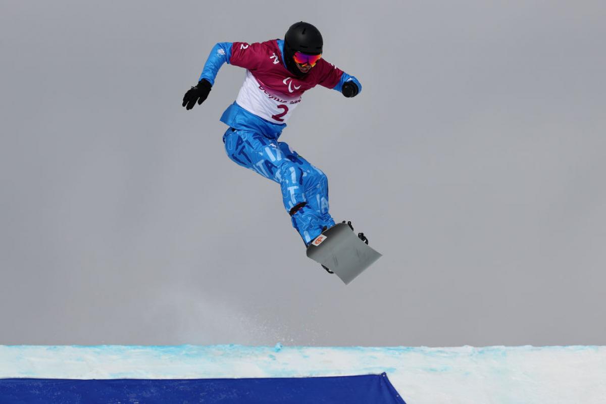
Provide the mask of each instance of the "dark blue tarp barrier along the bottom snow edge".
[{"label": "dark blue tarp barrier along the bottom snow edge", "polygon": [[405,404],[385,373],[273,379],[0,379],[0,403]]}]

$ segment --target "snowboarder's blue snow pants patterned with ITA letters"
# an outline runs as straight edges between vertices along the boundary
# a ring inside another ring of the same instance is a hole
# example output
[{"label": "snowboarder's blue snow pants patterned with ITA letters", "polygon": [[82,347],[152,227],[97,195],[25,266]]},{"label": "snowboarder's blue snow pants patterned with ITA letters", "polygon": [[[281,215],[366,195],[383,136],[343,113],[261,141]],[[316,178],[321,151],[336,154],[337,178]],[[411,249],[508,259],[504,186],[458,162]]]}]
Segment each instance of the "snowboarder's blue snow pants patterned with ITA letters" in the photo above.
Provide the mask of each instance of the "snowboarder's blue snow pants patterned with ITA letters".
[{"label": "snowboarder's blue snow pants patterned with ITA letters", "polygon": [[291,216],[293,227],[306,245],[322,233],[322,228],[335,225],[328,214],[326,175],[288,144],[260,133],[232,128],[223,135],[223,142],[231,160],[280,184],[282,202],[288,213],[293,207],[306,203]]}]

